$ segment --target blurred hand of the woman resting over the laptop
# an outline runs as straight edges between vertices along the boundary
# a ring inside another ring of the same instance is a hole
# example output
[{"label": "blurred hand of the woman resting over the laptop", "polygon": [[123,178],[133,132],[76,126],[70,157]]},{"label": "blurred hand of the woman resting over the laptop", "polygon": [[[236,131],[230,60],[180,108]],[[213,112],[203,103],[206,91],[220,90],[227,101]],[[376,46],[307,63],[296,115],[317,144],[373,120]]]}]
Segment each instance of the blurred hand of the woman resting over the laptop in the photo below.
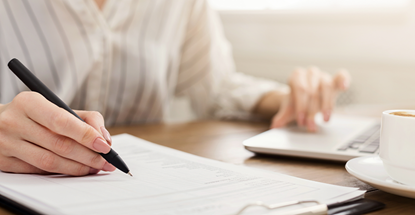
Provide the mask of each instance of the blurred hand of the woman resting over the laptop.
[{"label": "blurred hand of the woman resting over the laptop", "polygon": [[289,80],[291,92],[283,97],[271,128],[296,120],[299,126],[316,131],[314,116],[322,112],[324,121],[329,121],[338,93],[347,90],[349,84],[350,75],[346,70],[332,77],[317,67],[296,69]]}]

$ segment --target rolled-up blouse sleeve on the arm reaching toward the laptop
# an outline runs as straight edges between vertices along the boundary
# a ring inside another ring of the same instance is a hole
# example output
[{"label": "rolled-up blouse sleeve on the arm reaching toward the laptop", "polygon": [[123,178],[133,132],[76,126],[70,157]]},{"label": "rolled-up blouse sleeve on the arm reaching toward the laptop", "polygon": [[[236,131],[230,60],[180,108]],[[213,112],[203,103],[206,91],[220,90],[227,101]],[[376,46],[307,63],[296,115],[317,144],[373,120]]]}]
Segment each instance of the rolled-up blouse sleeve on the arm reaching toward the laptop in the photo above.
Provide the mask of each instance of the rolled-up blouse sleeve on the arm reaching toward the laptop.
[{"label": "rolled-up blouse sleeve on the arm reaching toward the laptop", "polygon": [[190,11],[176,95],[188,96],[198,117],[252,119],[252,110],[264,94],[288,89],[285,84],[236,72],[217,13],[199,0]]}]

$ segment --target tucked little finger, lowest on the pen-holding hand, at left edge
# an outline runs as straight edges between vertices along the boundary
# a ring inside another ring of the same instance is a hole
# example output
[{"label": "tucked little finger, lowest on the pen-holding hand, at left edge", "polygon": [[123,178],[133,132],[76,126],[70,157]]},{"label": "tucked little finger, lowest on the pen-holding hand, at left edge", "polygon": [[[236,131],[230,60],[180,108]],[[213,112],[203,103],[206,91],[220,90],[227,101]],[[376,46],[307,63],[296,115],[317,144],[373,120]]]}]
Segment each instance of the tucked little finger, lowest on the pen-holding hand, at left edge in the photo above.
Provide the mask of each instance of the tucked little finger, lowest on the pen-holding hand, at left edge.
[{"label": "tucked little finger, lowest on the pen-holding hand, at left edge", "polygon": [[31,173],[31,174],[50,174],[37,167],[34,167],[18,158],[4,157],[0,159],[0,169],[9,173]]}]

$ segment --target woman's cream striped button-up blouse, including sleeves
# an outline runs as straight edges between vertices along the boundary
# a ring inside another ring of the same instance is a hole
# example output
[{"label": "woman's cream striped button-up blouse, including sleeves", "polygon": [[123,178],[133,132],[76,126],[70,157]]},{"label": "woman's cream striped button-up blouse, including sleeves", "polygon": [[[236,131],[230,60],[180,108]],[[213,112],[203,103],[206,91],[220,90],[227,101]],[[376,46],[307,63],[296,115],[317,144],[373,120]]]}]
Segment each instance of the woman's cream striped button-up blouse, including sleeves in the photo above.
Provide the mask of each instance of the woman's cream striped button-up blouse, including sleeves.
[{"label": "woman's cream striped button-up blouse, including sleeves", "polygon": [[199,117],[249,118],[285,87],[235,72],[220,20],[205,0],[0,0],[0,102],[27,88],[20,59],[74,109],[107,125],[163,120],[175,96]]}]

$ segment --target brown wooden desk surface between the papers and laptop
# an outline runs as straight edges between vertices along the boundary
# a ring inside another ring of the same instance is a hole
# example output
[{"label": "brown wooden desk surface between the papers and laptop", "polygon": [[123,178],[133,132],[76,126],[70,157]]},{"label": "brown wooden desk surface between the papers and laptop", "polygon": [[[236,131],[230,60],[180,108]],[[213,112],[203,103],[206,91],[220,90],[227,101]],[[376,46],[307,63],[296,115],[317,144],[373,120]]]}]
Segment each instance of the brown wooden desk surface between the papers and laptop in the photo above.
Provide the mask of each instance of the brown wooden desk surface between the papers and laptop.
[{"label": "brown wooden desk surface between the papers and laptop", "polygon": [[[376,190],[351,176],[344,163],[280,156],[255,155],[242,141],[268,129],[268,123],[198,121],[174,125],[142,125],[110,128],[112,135],[129,133],[170,148],[223,162],[288,174],[304,179],[368,190],[366,198],[386,204],[371,214],[414,214],[415,199]],[[0,215],[12,213],[0,208]]]}]

